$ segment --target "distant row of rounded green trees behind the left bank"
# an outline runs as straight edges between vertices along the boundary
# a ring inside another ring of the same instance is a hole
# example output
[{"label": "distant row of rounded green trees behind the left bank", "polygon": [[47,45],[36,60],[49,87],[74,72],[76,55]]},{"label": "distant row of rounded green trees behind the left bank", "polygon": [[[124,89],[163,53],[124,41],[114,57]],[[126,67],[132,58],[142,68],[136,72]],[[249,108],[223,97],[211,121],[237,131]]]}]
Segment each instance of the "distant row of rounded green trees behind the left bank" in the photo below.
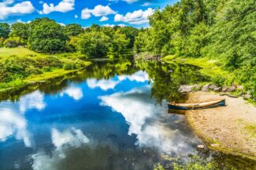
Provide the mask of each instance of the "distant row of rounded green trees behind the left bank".
[{"label": "distant row of rounded green trees behind the left bank", "polygon": [[0,47],[22,45],[43,53],[81,52],[88,57],[115,57],[132,49],[138,33],[134,27],[61,26],[49,18],[39,18],[29,24],[1,23]]}]

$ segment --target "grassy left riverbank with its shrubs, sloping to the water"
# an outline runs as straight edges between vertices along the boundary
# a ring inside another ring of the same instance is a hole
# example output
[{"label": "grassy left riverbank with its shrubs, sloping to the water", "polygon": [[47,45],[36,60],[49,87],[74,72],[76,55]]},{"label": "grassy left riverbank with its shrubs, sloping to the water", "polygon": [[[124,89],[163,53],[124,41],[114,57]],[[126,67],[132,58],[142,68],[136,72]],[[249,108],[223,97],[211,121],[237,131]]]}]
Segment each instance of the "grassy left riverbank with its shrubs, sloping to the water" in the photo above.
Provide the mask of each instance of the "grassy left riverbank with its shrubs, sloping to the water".
[{"label": "grassy left riverbank with its shrubs, sloping to the water", "polygon": [[0,48],[0,92],[57,78],[87,67],[79,53],[42,54],[26,48]]}]

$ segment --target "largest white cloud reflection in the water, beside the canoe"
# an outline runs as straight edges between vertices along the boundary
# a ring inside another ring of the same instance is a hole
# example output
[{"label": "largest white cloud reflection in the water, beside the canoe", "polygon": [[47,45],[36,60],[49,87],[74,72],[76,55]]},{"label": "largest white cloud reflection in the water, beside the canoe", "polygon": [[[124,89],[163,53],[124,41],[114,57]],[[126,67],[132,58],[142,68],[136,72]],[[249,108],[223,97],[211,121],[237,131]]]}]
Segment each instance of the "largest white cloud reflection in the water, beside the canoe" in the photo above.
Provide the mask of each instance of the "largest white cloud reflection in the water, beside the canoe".
[{"label": "largest white cloud reflection in the water, beside the canoe", "polygon": [[123,114],[129,124],[128,135],[135,134],[139,146],[155,147],[166,154],[180,156],[194,152],[193,144],[198,143],[198,139],[190,136],[187,130],[180,132],[178,126],[183,126],[184,120],[181,117],[170,120],[166,103],[154,104],[150,85],[100,96],[100,99],[103,106]]}]

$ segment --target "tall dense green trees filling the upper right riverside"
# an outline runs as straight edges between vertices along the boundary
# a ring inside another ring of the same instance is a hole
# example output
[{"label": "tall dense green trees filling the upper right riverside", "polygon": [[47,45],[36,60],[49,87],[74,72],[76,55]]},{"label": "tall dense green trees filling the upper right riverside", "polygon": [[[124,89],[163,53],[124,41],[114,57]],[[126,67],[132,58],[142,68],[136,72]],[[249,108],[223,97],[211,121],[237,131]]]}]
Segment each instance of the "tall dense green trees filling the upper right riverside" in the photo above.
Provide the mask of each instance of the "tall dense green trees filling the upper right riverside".
[{"label": "tall dense green trees filling the upper right riverside", "polygon": [[181,0],[150,16],[135,52],[218,60],[256,97],[255,6],[254,0]]}]

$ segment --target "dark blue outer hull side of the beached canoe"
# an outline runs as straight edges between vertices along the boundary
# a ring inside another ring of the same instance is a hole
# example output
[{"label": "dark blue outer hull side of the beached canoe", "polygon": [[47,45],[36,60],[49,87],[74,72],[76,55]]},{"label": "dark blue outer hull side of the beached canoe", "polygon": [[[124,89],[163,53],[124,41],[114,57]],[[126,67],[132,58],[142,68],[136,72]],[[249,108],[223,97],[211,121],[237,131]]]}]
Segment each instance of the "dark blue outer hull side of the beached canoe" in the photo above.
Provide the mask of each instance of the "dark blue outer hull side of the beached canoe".
[{"label": "dark blue outer hull side of the beached canoe", "polygon": [[207,109],[212,107],[224,107],[225,105],[226,105],[225,100],[223,99],[217,103],[213,103],[208,106],[202,106],[202,107],[197,105],[195,105],[195,107],[184,107],[184,106],[179,106],[177,104],[172,104],[172,103],[169,103],[168,107],[169,107],[169,110],[198,110],[198,109]]}]

